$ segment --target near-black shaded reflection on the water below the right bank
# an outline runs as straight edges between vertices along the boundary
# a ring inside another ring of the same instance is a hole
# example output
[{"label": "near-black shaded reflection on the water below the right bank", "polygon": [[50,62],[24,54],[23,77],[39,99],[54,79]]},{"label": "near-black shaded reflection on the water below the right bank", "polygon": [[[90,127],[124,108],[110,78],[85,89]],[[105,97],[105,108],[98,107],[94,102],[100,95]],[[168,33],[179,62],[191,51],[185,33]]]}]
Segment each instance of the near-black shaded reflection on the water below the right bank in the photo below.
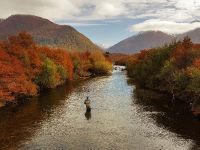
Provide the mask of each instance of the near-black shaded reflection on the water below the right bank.
[{"label": "near-black shaded reflection on the water below the right bank", "polygon": [[188,112],[187,105],[177,101],[171,104],[170,97],[148,90],[137,88],[134,92],[135,104],[142,106],[142,110],[149,112],[157,124],[184,139],[194,141],[190,149],[200,149],[200,121]]}]

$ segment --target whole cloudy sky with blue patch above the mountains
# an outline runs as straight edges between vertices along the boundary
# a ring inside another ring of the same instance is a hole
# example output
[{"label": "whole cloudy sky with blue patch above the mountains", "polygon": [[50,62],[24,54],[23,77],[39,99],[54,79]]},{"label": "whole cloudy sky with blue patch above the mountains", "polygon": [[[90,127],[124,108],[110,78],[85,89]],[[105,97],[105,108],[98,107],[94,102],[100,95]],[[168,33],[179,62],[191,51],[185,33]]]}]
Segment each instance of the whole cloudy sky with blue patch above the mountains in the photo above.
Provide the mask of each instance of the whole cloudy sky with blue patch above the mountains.
[{"label": "whole cloudy sky with blue patch above the mountains", "polygon": [[0,18],[13,14],[71,25],[107,48],[139,32],[179,34],[200,27],[200,0],[1,0]]}]

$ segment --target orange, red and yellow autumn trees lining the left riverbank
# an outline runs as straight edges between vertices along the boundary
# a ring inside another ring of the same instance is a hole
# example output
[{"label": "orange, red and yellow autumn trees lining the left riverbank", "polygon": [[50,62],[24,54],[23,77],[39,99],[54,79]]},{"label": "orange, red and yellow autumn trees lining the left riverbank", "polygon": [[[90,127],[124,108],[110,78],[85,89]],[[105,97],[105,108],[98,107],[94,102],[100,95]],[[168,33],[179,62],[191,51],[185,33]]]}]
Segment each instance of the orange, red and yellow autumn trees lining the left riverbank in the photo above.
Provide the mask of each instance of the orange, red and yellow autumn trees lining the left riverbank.
[{"label": "orange, red and yellow autumn trees lining the left riverbank", "polygon": [[78,78],[107,75],[111,69],[99,50],[70,52],[39,46],[23,32],[0,42],[0,102],[34,96]]}]

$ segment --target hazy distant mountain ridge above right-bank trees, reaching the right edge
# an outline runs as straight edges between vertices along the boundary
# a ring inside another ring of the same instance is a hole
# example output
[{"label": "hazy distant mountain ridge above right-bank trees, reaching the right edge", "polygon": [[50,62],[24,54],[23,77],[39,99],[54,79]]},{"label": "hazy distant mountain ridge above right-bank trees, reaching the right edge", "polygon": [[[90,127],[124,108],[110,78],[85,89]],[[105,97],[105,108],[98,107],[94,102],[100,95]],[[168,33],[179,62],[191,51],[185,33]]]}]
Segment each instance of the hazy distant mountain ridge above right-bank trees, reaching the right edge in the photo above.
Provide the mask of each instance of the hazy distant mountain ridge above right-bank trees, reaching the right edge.
[{"label": "hazy distant mountain ridge above right-bank trees, reaching the right edge", "polygon": [[194,43],[200,43],[200,28],[196,28],[183,34],[167,34],[162,31],[146,31],[131,36],[108,48],[111,53],[132,54],[142,49],[159,47],[170,43],[172,40],[183,39],[189,36]]}]

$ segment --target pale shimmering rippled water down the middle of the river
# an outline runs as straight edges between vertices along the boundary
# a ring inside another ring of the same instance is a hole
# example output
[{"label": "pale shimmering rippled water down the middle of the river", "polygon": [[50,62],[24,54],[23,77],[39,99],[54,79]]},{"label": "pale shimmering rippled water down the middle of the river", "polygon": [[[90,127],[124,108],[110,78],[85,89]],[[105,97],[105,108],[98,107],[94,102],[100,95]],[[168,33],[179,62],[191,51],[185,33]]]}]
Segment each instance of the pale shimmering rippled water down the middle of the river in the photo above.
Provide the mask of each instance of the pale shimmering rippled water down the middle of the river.
[{"label": "pale shimmering rippled water down the middle of the river", "polygon": [[[38,104],[31,112],[42,116],[35,119],[38,126],[34,128],[29,125],[27,122],[33,118],[27,117],[24,124],[27,124],[30,133],[19,139],[16,146],[19,149],[49,150],[175,150],[191,147],[192,141],[157,124],[152,117],[165,114],[146,111],[144,106],[135,103],[133,89],[132,85],[127,84],[125,73],[114,72],[109,77],[80,83],[70,93],[63,92],[61,95],[61,89],[54,91],[54,99],[49,93],[36,100]],[[89,119],[85,115],[83,104],[88,95],[92,101],[92,112],[87,114]],[[42,102],[45,104],[42,105]],[[30,108],[32,105],[30,104]],[[48,115],[44,115],[45,113]],[[9,123],[11,121],[4,125]],[[25,128],[20,128],[20,133],[25,132],[24,130]]]}]

